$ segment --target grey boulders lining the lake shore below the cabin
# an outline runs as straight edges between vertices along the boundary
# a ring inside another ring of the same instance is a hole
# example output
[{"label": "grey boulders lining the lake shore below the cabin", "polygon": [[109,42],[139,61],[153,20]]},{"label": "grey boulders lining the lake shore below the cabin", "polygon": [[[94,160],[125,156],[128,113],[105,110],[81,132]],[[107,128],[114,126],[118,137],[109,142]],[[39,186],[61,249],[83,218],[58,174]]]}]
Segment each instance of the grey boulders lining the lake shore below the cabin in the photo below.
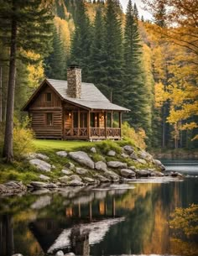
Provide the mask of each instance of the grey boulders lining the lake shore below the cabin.
[{"label": "grey boulders lining the lake shore below the cabin", "polygon": [[[49,163],[49,156],[40,153],[29,154],[26,161],[38,170],[39,181],[32,180],[28,185],[23,185],[21,181],[10,180],[0,185],[0,195],[23,195],[26,191],[37,191],[39,194],[44,191],[58,191],[64,187],[122,183],[142,177],[182,176],[175,172],[165,174],[165,167],[158,159],[154,159],[144,150],[137,152],[130,145],[122,147],[120,153],[109,150],[100,161],[93,160],[93,155],[97,154],[94,147],[89,149],[89,152],[58,151],[55,154],[66,160],[58,179],[52,180],[48,176],[48,173],[56,170],[55,165]],[[109,160],[109,157],[112,159]]]}]

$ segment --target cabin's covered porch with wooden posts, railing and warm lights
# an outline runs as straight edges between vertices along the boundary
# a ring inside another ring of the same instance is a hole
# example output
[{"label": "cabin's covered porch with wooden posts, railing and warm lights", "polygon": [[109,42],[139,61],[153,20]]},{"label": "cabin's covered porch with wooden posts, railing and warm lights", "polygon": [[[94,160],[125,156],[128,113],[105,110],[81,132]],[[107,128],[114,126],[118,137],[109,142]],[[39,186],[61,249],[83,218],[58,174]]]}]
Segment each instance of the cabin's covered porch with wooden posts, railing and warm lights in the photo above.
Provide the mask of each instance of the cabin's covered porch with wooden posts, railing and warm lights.
[{"label": "cabin's covered porch with wooden posts, railing and warm lights", "polygon": [[63,118],[63,139],[121,139],[121,111],[66,109]]}]

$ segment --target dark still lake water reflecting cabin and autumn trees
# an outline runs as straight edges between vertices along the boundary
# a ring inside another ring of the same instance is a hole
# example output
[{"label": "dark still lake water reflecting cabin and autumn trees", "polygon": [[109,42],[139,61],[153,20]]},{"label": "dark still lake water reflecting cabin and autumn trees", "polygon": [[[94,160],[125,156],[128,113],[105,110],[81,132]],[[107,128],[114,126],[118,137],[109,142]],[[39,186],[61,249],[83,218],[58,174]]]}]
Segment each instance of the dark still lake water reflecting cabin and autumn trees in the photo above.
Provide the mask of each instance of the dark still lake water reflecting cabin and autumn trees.
[{"label": "dark still lake water reflecting cabin and autumn trees", "polygon": [[176,207],[198,204],[197,162],[163,163],[189,175],[0,199],[0,256],[66,253],[74,244],[93,256],[197,256],[197,235],[175,237],[169,228]]}]

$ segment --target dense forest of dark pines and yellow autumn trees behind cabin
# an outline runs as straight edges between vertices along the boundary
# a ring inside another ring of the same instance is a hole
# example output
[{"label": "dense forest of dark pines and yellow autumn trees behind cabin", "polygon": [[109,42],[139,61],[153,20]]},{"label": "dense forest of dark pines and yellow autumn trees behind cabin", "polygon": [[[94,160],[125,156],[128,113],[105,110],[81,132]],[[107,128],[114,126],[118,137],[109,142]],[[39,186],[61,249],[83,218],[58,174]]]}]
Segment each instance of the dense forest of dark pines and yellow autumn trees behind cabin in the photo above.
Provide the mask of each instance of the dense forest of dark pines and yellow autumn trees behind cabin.
[{"label": "dense forest of dark pines and yellow autumn trees behind cabin", "polygon": [[118,0],[1,0],[0,121],[12,121],[12,79],[14,116],[22,120],[20,109],[44,76],[66,80],[67,65],[76,63],[82,81],[131,109],[123,118],[143,128],[149,147],[197,147],[198,3],[143,3],[153,21],[139,18],[131,0],[126,14]]}]

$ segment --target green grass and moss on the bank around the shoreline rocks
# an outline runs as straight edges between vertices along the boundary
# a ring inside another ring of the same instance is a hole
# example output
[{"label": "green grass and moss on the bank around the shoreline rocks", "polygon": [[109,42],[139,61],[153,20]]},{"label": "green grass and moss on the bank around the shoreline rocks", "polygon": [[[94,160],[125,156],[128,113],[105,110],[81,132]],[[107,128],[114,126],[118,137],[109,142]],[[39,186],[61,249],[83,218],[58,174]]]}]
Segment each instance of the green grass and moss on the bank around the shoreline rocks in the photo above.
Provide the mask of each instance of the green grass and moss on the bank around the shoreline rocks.
[{"label": "green grass and moss on the bank around the shoreline rocks", "polygon": [[[55,154],[56,151],[65,150],[67,152],[83,150],[87,152],[94,162],[100,160],[121,160],[128,163],[128,165],[135,165],[140,167],[137,163],[134,163],[132,159],[123,159],[121,156],[121,147],[127,142],[104,140],[99,142],[88,141],[62,141],[62,140],[47,140],[47,139],[34,139],[34,148],[38,153],[46,154],[50,157],[47,160],[50,165],[55,165],[55,170],[50,173],[44,173],[37,170],[34,166],[29,165],[29,160],[15,158],[12,164],[5,164],[3,159],[0,159],[0,183],[8,180],[22,180],[24,184],[29,184],[31,180],[40,180],[39,174],[48,175],[51,181],[58,180],[62,176],[61,170],[65,168],[67,162],[74,162],[70,158],[62,158]],[[91,147],[96,148],[96,153],[90,151]],[[115,157],[107,156],[109,150],[114,150],[117,154]],[[77,163],[74,163],[79,166]],[[143,167],[143,166],[142,166]],[[91,174],[91,173],[90,173]]]}]

